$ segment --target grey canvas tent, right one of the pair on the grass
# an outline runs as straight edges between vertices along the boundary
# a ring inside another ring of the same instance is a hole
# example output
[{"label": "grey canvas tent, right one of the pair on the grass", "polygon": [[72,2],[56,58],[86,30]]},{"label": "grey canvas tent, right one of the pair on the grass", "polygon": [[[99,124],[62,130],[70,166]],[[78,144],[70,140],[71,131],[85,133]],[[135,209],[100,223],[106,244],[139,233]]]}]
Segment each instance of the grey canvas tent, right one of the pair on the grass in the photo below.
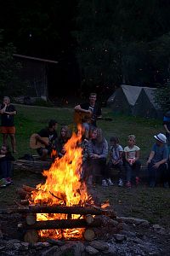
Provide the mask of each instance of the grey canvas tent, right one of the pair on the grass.
[{"label": "grey canvas tent, right one of the pair on the grass", "polygon": [[133,106],[133,115],[144,118],[162,118],[162,112],[154,99],[154,93],[157,89],[143,87],[139,97]]}]

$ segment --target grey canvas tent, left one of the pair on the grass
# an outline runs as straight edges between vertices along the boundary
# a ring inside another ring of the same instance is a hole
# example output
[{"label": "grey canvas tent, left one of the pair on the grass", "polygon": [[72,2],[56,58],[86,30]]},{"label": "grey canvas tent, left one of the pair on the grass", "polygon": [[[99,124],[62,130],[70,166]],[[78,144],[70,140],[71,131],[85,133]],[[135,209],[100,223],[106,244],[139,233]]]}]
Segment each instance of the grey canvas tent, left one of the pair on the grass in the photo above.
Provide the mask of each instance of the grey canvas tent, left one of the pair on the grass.
[{"label": "grey canvas tent, left one of the pair on the grass", "polygon": [[114,113],[133,114],[133,106],[142,87],[122,84],[107,100]]}]

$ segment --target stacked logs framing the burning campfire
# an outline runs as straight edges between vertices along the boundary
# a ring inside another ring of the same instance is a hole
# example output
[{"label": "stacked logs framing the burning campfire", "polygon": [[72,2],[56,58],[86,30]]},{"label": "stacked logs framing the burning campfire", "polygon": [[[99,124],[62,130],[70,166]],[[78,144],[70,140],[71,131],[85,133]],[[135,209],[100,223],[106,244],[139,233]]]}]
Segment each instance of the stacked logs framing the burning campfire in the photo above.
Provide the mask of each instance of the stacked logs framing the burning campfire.
[{"label": "stacked logs framing the burning campfire", "polygon": [[[116,212],[110,207],[102,208],[87,203],[85,207],[81,206],[47,206],[47,205],[29,205],[31,191],[35,188],[23,185],[17,189],[20,195],[20,203],[12,212],[21,213],[24,221],[18,224],[18,230],[24,234],[24,241],[35,243],[39,240],[38,230],[64,230],[85,228],[84,239],[92,241],[95,237],[95,229],[105,226],[104,216],[116,218]],[[55,219],[47,221],[37,221],[37,213],[61,213],[66,214],[66,219]],[[80,215],[80,218],[71,218],[72,214]]]}]

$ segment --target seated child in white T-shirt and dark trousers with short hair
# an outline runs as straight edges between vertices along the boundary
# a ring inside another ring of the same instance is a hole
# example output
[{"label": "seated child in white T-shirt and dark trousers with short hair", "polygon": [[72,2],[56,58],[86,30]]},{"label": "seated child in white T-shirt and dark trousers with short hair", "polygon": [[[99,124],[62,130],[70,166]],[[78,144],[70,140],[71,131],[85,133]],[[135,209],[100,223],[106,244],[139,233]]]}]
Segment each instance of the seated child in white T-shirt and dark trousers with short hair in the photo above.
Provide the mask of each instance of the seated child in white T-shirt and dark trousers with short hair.
[{"label": "seated child in white T-shirt and dark trousers with short hair", "polygon": [[127,188],[131,188],[132,177],[135,177],[136,185],[139,184],[139,171],[141,163],[139,161],[140,148],[135,145],[135,136],[127,137],[127,147],[124,148],[125,153],[125,170],[127,175]]}]

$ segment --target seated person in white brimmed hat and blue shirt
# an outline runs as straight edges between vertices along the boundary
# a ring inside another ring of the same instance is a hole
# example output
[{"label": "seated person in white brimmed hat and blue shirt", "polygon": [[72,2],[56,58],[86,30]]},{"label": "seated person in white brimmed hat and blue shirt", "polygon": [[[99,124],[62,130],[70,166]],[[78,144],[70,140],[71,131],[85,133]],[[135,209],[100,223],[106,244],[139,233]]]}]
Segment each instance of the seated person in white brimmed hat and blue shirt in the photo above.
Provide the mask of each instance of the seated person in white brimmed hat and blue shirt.
[{"label": "seated person in white brimmed hat and blue shirt", "polygon": [[156,143],[151,148],[150,156],[147,161],[148,172],[149,172],[149,183],[150,188],[154,188],[159,178],[163,181],[163,186],[168,187],[168,148],[166,145],[167,137],[159,133],[154,136]]}]

